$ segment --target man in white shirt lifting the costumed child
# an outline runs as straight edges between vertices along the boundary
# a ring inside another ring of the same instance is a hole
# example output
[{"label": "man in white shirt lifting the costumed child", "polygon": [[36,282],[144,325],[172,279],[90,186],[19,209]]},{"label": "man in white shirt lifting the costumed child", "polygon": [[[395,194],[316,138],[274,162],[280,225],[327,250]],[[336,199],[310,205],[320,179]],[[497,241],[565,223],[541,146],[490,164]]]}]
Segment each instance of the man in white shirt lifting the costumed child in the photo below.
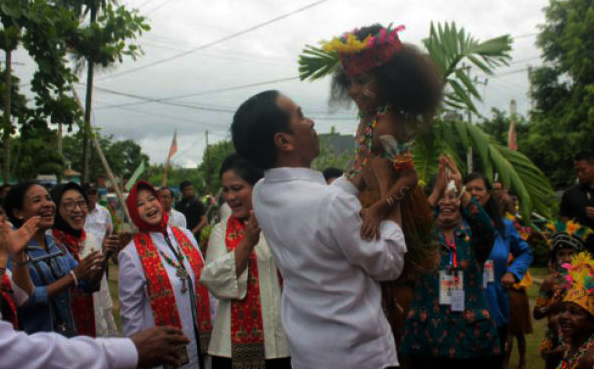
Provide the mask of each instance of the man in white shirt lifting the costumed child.
[{"label": "man in white shirt lifting the costumed child", "polygon": [[[328,186],[309,169],[319,154],[314,123],[291,99],[266,91],[231,125],[237,152],[264,169],[253,190],[256,218],[283,277],[282,322],[295,369],[398,366],[378,281],[396,279],[406,246],[400,227],[360,237],[357,188]],[[396,219],[398,207],[389,214]]]}]

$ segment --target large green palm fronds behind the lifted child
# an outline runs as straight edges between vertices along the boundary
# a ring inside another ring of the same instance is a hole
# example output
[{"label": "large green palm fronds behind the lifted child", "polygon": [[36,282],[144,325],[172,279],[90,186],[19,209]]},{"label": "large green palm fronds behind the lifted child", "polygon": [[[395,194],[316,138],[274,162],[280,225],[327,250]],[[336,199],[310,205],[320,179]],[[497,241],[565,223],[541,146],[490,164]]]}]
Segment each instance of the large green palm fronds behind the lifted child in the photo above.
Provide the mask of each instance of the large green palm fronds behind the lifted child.
[{"label": "large green palm fronds behind the lifted child", "polygon": [[[455,23],[431,23],[429,37],[423,40],[427,52],[442,72],[444,99],[440,114],[431,128],[415,138],[415,166],[419,178],[426,182],[437,173],[442,154],[454,158],[462,173],[467,167],[461,157],[472,148],[477,153],[483,173],[493,180],[498,173],[503,183],[518,195],[520,211],[529,220],[533,210],[549,215],[553,190],[548,178],[522,153],[512,151],[485,134],[479,127],[461,119],[444,121],[451,111],[466,110],[479,115],[473,99],[481,100],[476,81],[470,77],[470,66],[487,75],[511,60],[512,39],[504,35],[480,42]],[[306,46],[299,57],[302,80],[315,80],[334,72],[339,65],[336,52]]]}]

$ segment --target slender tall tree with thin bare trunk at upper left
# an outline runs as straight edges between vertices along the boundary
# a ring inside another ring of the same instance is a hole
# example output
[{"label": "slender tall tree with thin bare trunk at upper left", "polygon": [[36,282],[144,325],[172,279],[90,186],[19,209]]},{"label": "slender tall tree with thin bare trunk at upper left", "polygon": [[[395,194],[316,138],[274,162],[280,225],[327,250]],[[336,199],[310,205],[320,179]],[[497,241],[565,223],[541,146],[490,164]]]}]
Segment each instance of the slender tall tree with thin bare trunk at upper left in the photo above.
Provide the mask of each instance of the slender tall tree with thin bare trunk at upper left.
[{"label": "slender tall tree with thin bare trunk at upper left", "polygon": [[136,59],[141,54],[138,45],[130,42],[148,31],[150,27],[146,18],[136,10],[128,10],[123,5],[117,5],[115,0],[59,0],[68,6],[79,18],[87,22],[71,39],[71,50],[82,70],[86,64],[86,96],[84,108],[83,149],[82,149],[82,177],[89,178],[91,109],[93,95],[93,79],[95,66],[108,67],[116,62],[122,62],[125,56]]}]

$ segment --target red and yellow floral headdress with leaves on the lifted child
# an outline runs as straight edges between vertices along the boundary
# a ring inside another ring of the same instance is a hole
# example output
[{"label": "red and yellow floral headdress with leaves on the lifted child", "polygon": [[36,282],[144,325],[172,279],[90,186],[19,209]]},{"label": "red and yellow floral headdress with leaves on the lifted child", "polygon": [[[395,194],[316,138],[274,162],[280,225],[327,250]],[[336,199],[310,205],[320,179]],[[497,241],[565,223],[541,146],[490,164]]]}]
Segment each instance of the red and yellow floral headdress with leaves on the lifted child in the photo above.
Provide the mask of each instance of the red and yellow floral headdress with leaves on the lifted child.
[{"label": "red and yellow floral headdress with leaves on the lifted child", "polygon": [[330,41],[322,41],[321,49],[307,45],[299,56],[300,77],[302,80],[321,78],[332,73],[339,62],[348,76],[379,67],[402,47],[398,32],[404,29],[404,26],[392,28],[389,25],[364,40],[357,38],[358,29],[355,29]]}]

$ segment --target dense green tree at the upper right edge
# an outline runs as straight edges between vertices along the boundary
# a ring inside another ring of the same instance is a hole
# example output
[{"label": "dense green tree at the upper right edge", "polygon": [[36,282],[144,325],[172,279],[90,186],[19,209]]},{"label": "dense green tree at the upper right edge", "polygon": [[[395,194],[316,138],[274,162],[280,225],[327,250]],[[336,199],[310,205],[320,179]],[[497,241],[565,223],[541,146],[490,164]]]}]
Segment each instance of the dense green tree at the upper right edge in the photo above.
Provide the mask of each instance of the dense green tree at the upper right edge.
[{"label": "dense green tree at the upper right edge", "polygon": [[575,178],[575,154],[594,143],[594,1],[550,0],[544,13],[537,45],[546,64],[529,73],[526,152],[561,189]]}]

